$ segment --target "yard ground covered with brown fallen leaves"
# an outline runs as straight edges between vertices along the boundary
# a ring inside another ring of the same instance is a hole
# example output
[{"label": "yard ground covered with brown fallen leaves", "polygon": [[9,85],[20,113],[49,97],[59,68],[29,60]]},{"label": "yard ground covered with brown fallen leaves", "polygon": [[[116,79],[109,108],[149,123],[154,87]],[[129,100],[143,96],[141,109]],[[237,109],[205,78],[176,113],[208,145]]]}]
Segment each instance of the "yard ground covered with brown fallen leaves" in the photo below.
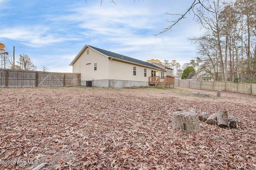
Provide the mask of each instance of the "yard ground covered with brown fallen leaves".
[{"label": "yard ground covered with brown fallen leaves", "polygon": [[[211,97],[193,97],[192,92]],[[195,89],[1,88],[0,169],[255,169],[256,96]],[[171,127],[176,109],[226,109],[238,129]]]}]

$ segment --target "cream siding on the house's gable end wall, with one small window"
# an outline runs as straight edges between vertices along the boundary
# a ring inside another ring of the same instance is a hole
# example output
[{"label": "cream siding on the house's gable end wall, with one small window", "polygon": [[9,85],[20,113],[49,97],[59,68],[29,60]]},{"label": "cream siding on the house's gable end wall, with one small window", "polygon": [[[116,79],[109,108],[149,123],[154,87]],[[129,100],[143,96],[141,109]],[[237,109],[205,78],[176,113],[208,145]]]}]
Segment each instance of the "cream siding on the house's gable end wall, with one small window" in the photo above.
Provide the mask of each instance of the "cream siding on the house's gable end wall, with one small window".
[{"label": "cream siding on the house's gable end wall, with one small window", "polygon": [[[87,54],[87,49],[88,47],[73,64],[73,73],[81,73],[81,81],[109,79],[108,58],[94,49],[89,49]],[[97,71],[94,71],[94,63]]]}]

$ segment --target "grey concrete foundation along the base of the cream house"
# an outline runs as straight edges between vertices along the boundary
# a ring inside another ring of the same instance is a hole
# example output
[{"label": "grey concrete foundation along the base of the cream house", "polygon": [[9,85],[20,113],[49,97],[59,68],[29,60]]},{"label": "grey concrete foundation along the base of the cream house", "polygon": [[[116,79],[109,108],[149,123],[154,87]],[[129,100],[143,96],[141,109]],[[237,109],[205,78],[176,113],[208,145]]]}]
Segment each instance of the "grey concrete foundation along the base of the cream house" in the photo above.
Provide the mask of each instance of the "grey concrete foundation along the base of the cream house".
[{"label": "grey concrete foundation along the base of the cream house", "polygon": [[[127,81],[127,80],[87,80],[92,81],[92,87],[124,88],[133,86],[148,86],[148,81]],[[86,85],[86,81],[81,81]]]}]

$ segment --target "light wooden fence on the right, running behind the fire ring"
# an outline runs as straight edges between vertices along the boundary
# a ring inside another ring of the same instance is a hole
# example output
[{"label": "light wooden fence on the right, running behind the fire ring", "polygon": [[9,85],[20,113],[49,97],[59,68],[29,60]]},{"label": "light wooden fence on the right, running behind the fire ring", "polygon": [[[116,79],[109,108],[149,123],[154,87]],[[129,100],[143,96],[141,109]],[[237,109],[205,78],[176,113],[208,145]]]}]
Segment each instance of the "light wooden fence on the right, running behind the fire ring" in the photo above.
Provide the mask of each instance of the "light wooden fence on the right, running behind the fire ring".
[{"label": "light wooden fence on the right, running behind the fire ring", "polygon": [[256,95],[256,84],[234,83],[231,81],[196,81],[175,79],[176,87],[186,87],[202,90],[222,90],[233,91],[237,93],[246,93]]}]

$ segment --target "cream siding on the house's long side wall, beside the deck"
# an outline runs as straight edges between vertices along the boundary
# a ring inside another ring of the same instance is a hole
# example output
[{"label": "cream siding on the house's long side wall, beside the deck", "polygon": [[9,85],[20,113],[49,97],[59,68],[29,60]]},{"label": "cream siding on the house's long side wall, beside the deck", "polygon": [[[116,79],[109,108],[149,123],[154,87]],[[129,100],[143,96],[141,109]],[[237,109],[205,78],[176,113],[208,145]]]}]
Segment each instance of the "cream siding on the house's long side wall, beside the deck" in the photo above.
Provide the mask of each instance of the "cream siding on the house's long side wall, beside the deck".
[{"label": "cream siding on the house's long side wall, beside the deck", "polygon": [[[133,75],[134,64],[126,63],[123,61],[111,60],[110,77],[112,80],[129,80],[129,81],[148,81],[148,77],[151,76],[151,72],[144,76],[145,66],[136,65],[136,76]],[[157,69],[148,68],[148,70],[154,70],[160,73]]]}]

